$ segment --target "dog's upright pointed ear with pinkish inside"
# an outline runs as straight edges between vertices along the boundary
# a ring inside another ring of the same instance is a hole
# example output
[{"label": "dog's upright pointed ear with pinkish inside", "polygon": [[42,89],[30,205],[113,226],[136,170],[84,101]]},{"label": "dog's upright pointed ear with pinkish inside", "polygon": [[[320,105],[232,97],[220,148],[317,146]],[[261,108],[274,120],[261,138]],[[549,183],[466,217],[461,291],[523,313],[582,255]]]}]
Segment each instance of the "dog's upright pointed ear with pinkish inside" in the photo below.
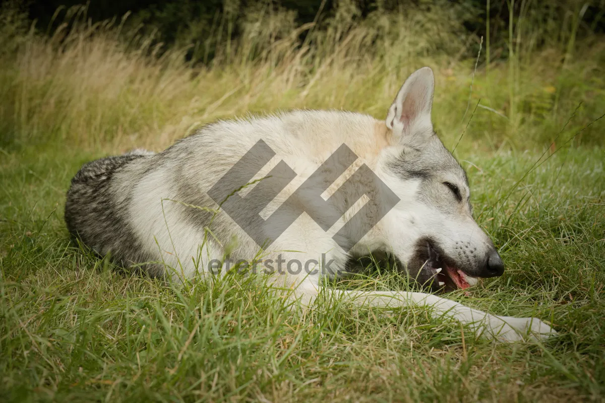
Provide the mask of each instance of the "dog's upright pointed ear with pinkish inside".
[{"label": "dog's upright pointed ear with pinkish inside", "polygon": [[435,80],[430,67],[414,71],[405,80],[393,105],[388,108],[386,123],[395,138],[419,146],[433,135],[431,108],[434,88]]}]

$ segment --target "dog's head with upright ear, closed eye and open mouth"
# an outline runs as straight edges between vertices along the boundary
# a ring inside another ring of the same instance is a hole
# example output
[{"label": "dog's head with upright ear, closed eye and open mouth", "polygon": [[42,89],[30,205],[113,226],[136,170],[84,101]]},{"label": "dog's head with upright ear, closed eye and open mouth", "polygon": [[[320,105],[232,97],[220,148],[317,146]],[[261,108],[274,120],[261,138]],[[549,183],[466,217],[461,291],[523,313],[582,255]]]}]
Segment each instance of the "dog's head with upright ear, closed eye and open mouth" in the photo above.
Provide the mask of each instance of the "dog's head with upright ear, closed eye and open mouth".
[{"label": "dog's head with upright ear, closed eye and open mouth", "polygon": [[500,276],[504,265],[473,219],[466,173],[431,123],[433,71],[405,81],[387,115],[388,146],[378,170],[401,199],[382,219],[382,244],[433,289],[466,288]]}]

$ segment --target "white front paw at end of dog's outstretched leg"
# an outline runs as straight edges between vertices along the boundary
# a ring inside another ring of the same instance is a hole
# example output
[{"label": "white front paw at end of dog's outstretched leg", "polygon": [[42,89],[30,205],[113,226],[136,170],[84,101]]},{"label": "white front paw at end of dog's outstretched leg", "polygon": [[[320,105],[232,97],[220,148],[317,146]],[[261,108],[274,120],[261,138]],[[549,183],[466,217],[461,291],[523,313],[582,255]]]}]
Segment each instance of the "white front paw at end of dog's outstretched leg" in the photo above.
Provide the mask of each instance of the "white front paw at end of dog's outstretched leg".
[{"label": "white front paw at end of dog's outstretched leg", "polygon": [[496,340],[512,343],[523,340],[543,340],[557,332],[538,318],[492,317],[489,329]]}]

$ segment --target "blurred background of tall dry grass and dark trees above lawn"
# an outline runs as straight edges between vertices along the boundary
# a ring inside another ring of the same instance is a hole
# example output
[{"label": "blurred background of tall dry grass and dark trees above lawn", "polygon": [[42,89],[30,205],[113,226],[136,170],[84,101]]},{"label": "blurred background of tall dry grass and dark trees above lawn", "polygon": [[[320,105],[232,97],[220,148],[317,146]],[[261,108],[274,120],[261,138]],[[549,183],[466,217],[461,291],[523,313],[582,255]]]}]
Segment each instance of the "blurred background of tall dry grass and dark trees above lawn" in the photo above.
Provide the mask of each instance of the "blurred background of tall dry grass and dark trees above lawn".
[{"label": "blurred background of tall dry grass and dark trees above lawn", "polygon": [[161,149],[289,108],[382,118],[428,65],[450,148],[602,146],[604,31],[605,0],[5,1],[0,144]]}]

